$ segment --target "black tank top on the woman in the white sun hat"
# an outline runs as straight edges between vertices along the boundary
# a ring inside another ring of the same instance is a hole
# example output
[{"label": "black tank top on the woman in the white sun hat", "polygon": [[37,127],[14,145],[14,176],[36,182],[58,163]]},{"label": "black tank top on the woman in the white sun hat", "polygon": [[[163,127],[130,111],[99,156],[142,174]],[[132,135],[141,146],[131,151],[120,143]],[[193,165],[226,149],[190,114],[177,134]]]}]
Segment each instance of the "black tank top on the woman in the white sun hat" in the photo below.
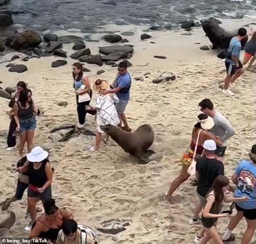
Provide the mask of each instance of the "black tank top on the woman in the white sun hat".
[{"label": "black tank top on the woman in the white sun hat", "polygon": [[45,182],[47,181],[46,173],[45,173],[45,165],[49,162],[48,160],[44,160],[42,165],[39,169],[34,169],[33,163],[29,162],[28,166],[28,177],[29,177],[29,184],[41,188],[44,186]]}]

